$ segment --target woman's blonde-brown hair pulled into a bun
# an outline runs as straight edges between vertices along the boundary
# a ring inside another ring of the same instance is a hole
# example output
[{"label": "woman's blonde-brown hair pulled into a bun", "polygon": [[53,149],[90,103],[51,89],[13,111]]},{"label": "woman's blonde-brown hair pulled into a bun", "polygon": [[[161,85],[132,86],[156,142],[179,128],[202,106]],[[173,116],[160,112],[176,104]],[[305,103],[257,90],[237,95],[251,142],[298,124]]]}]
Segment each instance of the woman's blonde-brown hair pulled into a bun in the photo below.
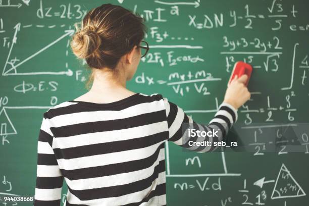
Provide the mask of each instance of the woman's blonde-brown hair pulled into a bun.
[{"label": "woman's blonde-brown hair pulled into a bun", "polygon": [[76,26],[71,48],[78,59],[91,68],[86,87],[93,81],[93,69],[109,68],[115,72],[120,58],[140,43],[146,33],[143,19],[112,4],[90,10]]}]

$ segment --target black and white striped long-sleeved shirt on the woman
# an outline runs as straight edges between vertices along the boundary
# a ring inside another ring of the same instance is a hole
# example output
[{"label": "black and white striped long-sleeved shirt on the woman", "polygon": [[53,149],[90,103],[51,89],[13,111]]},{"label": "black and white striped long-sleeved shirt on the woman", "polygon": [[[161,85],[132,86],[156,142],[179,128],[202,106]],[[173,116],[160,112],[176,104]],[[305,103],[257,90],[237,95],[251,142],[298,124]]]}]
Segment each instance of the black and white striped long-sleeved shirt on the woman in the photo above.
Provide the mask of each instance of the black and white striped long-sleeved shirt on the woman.
[{"label": "black and white striped long-sleeved shirt on the woman", "polygon": [[[220,141],[237,120],[221,104],[204,129]],[[165,142],[183,146],[182,123],[193,123],[160,94],[136,93],[108,104],[69,100],[43,115],[37,145],[34,205],[166,205]],[[213,147],[188,147],[198,152]]]}]

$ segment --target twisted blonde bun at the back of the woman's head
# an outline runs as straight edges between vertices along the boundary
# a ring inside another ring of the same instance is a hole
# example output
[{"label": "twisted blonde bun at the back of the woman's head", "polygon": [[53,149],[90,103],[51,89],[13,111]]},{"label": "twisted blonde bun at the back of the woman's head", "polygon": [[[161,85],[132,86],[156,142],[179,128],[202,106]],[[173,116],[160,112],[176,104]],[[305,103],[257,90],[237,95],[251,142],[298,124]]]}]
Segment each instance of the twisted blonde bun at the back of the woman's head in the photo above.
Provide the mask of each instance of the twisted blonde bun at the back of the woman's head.
[{"label": "twisted blonde bun at the back of the woman's head", "polygon": [[99,34],[89,26],[77,31],[71,41],[73,53],[81,59],[94,55],[100,44]]}]

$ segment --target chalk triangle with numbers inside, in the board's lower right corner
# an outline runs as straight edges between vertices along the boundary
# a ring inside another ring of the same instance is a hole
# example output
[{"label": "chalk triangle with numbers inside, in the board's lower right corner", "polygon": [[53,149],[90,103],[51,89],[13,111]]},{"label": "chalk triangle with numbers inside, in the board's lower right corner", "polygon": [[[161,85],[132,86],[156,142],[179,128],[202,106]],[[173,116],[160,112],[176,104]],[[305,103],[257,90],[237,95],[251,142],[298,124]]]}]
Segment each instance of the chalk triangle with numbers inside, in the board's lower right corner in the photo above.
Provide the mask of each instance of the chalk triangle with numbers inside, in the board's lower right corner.
[{"label": "chalk triangle with numbers inside, in the board's lower right corner", "polygon": [[271,199],[301,197],[305,195],[306,193],[291,175],[290,171],[282,164]]}]

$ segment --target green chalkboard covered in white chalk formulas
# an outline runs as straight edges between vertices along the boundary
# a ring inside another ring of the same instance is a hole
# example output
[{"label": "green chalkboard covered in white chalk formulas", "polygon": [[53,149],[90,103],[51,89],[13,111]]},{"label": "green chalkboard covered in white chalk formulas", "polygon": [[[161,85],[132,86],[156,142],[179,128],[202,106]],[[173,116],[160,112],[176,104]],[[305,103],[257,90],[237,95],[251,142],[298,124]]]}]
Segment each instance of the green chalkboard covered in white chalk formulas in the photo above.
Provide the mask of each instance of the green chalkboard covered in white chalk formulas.
[{"label": "green chalkboard covered in white chalk formulas", "polygon": [[[148,28],[149,53],[128,87],[163,94],[198,123],[213,118],[235,62],[253,66],[251,99],[228,135],[238,146],[166,145],[168,205],[309,204],[305,0],[0,1],[1,204],[34,195],[42,114],[86,92],[88,70],[69,41],[73,24],[102,3],[142,15]],[[66,185],[62,193],[64,202]]]}]

